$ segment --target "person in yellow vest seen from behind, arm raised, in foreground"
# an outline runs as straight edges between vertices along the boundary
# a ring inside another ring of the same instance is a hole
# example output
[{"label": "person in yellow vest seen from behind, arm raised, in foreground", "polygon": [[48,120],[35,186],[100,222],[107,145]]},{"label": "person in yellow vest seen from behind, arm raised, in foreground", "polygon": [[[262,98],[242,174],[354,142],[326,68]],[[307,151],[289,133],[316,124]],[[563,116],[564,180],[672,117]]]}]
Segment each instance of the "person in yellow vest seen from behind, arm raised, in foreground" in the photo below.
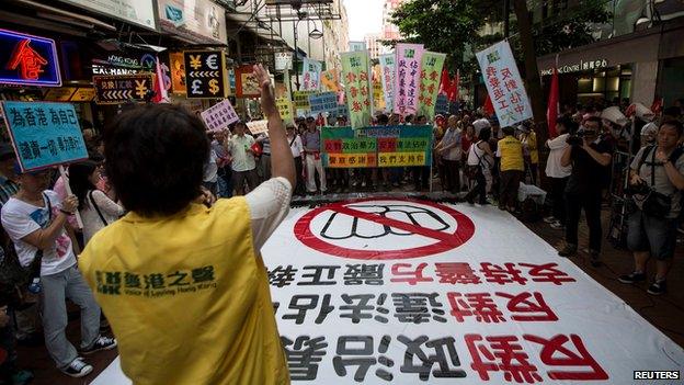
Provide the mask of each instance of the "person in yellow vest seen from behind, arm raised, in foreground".
[{"label": "person in yellow vest seen from behind, arm raised, in foreground", "polygon": [[180,106],[137,107],[105,132],[107,177],[130,213],[79,267],[136,385],[289,383],[259,250],[288,212],[295,165],[269,73],[254,75],[272,179],[246,196],[203,202],[206,127]]}]

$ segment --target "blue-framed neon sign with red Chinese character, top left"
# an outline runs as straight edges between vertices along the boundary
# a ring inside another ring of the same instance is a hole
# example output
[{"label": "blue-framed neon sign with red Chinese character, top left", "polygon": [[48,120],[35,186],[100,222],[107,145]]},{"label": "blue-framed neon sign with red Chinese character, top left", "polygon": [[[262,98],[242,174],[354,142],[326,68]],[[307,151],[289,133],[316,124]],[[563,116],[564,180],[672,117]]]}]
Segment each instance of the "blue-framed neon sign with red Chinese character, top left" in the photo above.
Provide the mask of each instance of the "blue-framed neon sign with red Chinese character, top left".
[{"label": "blue-framed neon sign with red Chinese character, top left", "polygon": [[0,30],[0,83],[59,87],[58,61],[52,38]]}]

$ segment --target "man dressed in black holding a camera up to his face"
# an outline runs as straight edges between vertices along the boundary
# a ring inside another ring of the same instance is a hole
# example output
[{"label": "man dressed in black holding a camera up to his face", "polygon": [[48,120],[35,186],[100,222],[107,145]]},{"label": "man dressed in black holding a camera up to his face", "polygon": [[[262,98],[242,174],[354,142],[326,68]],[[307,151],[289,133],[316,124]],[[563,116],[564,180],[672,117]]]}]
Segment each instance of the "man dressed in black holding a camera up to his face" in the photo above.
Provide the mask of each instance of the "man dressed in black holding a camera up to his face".
[{"label": "man dressed in black holding a camera up to his face", "polygon": [[568,144],[560,163],[572,166],[572,173],[566,186],[566,246],[558,251],[560,257],[577,253],[578,226],[584,210],[589,225],[589,253],[593,267],[601,265],[601,192],[608,180],[613,146],[601,133],[600,117],[591,116],[578,135],[568,137]]}]

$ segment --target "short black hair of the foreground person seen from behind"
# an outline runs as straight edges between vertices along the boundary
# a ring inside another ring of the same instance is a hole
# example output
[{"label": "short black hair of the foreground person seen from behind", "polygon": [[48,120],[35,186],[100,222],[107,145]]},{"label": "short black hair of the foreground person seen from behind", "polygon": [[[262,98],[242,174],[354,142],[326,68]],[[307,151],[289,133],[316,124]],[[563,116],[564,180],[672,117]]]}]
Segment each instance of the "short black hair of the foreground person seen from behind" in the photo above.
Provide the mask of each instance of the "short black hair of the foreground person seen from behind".
[{"label": "short black hair of the foreground person seen from behind", "polygon": [[124,112],[105,131],[104,145],[106,174],[127,210],[168,216],[201,194],[209,140],[185,109],[149,104]]}]

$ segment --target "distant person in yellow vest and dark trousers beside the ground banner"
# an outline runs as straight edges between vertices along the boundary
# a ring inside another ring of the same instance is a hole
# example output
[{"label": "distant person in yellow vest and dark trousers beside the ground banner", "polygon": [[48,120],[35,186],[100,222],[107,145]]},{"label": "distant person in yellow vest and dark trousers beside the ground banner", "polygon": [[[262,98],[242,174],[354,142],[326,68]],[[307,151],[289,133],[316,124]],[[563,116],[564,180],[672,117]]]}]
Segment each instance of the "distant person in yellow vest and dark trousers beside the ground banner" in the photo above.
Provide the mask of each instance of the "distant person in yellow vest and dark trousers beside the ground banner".
[{"label": "distant person in yellow vest and dark trousers beside the ground banner", "polygon": [[499,208],[514,212],[517,205],[517,190],[525,170],[523,145],[513,136],[513,127],[503,127],[503,139],[499,140],[497,157],[501,158],[501,181]]}]

